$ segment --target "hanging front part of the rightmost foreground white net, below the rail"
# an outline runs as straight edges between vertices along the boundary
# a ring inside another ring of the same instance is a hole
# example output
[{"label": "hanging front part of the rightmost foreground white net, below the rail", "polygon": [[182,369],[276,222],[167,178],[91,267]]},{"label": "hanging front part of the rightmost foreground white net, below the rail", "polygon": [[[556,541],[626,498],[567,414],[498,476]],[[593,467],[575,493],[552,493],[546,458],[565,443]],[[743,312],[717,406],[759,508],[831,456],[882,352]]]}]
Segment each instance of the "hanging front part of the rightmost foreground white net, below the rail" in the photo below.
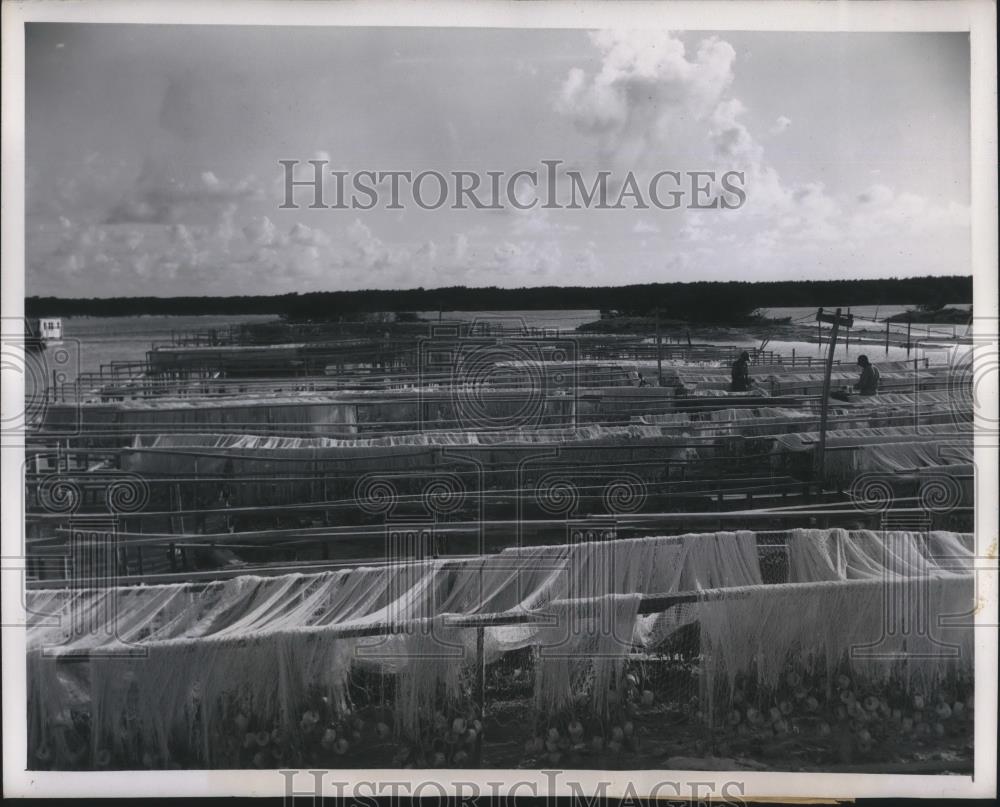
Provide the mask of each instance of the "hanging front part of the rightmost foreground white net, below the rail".
[{"label": "hanging front part of the rightmost foreground white net, below the rail", "polygon": [[[852,675],[869,684],[897,678],[905,686],[930,688],[971,668],[972,630],[934,626],[939,616],[969,612],[968,576],[876,582],[735,589],[730,602],[698,603],[694,610],[702,652],[714,662],[712,679],[731,691],[738,675],[752,672],[758,686],[774,687],[790,661],[819,668],[827,679],[849,662]],[[908,610],[897,621],[890,617],[893,608]]]}]

